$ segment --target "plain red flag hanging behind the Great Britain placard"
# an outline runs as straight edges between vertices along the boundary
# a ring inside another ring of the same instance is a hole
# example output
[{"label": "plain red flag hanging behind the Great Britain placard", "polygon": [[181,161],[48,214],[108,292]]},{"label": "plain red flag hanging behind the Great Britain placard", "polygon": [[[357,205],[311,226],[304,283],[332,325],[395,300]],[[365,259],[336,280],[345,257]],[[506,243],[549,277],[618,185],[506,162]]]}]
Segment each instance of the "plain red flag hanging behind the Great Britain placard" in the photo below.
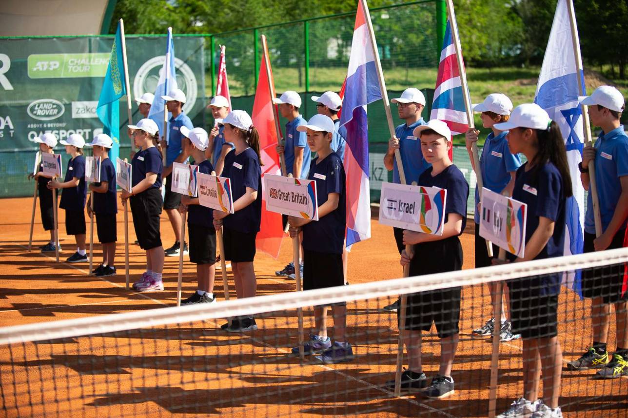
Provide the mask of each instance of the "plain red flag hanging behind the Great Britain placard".
[{"label": "plain red flag hanging behind the Great Britain placard", "polygon": [[[259,153],[264,164],[262,166],[262,177],[266,173],[281,175],[279,155],[275,150],[278,139],[278,125],[275,119],[276,107],[272,101],[273,97],[275,97],[273,72],[268,59],[268,48],[266,47],[265,38],[263,38],[263,44],[263,57],[259,66],[259,78],[252,113],[253,126],[259,131]],[[268,253],[274,258],[278,258],[281,240],[284,236],[281,214],[266,210],[265,194],[263,190],[260,190],[260,192],[262,193],[262,221],[259,233],[257,233],[255,246],[257,250],[264,251],[264,253]]]}]

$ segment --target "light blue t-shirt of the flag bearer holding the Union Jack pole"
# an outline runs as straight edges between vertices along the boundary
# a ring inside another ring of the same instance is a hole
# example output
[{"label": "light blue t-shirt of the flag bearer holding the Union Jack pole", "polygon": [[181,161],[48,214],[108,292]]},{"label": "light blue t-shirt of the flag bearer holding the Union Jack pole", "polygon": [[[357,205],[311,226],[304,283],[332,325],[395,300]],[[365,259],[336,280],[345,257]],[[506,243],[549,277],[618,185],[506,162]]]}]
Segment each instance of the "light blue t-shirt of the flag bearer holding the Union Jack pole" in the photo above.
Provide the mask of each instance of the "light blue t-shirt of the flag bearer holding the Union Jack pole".
[{"label": "light blue t-shirt of the flag bearer holding the Union Jack pole", "polygon": [[[512,154],[508,149],[508,141],[504,131],[495,136],[489,133],[480,155],[480,171],[482,172],[482,184],[495,193],[501,193],[511,180],[511,172],[521,167],[519,154]],[[475,223],[480,223],[480,212],[477,204],[480,202],[480,190],[475,188]]]}]

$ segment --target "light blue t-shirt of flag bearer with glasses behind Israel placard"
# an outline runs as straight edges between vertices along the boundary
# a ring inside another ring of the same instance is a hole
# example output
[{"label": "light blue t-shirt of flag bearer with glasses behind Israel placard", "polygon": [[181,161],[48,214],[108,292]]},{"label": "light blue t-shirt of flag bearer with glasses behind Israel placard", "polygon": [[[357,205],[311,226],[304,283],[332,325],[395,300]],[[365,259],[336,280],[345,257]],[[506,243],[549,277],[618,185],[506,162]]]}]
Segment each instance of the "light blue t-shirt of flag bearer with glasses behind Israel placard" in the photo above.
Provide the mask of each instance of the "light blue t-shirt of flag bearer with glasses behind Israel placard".
[{"label": "light blue t-shirt of flag bearer with glasses behind Israel placard", "polygon": [[[397,126],[395,136],[399,138],[399,153],[401,153],[401,163],[403,163],[403,173],[406,175],[406,182],[418,182],[419,176],[431,164],[423,158],[421,151],[421,140],[414,136],[414,128],[425,125],[423,118],[414,122],[410,126],[405,123]],[[393,183],[400,184],[399,168],[397,168],[397,158],[393,157]]]}]

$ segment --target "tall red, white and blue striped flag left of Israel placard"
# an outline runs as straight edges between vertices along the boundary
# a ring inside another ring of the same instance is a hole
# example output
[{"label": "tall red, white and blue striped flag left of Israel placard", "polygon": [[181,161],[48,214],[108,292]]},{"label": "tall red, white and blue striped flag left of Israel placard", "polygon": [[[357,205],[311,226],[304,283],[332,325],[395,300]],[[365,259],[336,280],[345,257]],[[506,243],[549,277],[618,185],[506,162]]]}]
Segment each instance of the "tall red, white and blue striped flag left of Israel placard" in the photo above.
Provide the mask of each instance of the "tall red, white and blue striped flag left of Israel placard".
[{"label": "tall red, white and blue striped flag left of Israel placard", "polygon": [[369,129],[366,105],[382,98],[369,25],[371,16],[359,0],[345,80],[340,126],[347,129],[344,167],[347,174],[347,247],[371,238]]}]

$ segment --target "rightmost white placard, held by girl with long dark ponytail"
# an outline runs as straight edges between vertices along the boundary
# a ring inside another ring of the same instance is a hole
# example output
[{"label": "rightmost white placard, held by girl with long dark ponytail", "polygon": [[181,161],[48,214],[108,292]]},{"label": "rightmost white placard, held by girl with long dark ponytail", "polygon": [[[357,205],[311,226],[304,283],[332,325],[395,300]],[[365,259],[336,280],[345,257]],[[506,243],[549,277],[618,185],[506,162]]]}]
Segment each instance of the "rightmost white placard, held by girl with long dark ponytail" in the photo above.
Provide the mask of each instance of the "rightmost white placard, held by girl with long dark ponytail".
[{"label": "rightmost white placard, held by girl with long dark ponytail", "polygon": [[528,205],[482,188],[480,236],[517,257],[526,246]]}]

